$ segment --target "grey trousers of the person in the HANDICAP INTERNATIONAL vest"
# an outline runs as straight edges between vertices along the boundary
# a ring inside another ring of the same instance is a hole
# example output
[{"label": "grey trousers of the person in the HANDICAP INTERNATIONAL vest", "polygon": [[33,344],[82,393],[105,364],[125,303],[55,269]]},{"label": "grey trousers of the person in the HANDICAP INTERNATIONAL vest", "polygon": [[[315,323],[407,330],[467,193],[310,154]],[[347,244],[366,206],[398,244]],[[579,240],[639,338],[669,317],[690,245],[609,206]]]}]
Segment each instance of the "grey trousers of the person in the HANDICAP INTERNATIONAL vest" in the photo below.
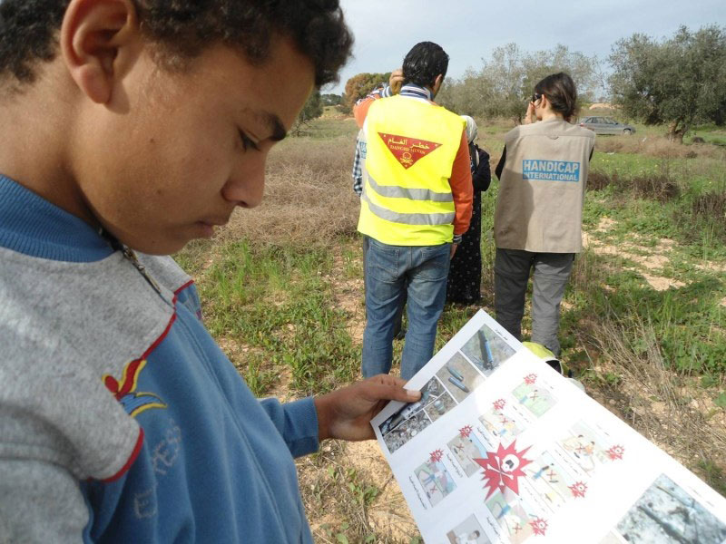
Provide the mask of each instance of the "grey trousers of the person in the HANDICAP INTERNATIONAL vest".
[{"label": "grey trousers of the person in the HANDICAP INTERNATIONAL vest", "polygon": [[532,253],[496,248],[494,294],[496,321],[517,340],[522,339],[525,293],[534,267],[532,288],[532,342],[560,355],[557,330],[564,287],[573,271],[574,253]]}]

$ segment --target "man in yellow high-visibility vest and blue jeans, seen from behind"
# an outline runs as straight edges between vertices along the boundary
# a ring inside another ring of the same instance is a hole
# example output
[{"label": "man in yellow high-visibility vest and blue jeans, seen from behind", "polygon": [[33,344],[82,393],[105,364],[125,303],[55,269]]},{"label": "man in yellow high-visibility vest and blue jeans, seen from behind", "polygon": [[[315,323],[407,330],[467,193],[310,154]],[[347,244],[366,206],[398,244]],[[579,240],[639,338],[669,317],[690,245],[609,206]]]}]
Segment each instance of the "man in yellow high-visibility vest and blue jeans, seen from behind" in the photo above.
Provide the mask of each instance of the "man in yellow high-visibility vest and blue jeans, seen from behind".
[{"label": "man in yellow high-visibility vest and blue jeans, seen from behind", "polygon": [[410,378],[431,358],[449,260],[469,228],[465,122],[433,102],[447,67],[439,45],[416,44],[380,98],[369,96],[354,110],[365,120],[368,151],[358,219],[369,242],[364,376],[390,371],[395,316],[406,292],[401,376]]}]

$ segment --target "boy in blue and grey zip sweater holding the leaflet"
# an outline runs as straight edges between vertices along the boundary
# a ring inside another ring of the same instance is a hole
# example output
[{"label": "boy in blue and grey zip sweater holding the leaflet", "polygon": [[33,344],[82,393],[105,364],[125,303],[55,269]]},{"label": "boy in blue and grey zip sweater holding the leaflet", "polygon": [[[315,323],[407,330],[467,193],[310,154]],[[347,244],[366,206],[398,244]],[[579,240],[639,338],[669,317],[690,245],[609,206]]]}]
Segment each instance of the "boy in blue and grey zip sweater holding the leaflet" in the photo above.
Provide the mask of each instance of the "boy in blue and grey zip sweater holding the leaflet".
[{"label": "boy in blue and grey zip sweater holding the leaflet", "polygon": [[260,203],[352,38],[338,2],[0,4],[0,541],[309,542],[292,456],[378,376],[258,402],[166,255]]}]

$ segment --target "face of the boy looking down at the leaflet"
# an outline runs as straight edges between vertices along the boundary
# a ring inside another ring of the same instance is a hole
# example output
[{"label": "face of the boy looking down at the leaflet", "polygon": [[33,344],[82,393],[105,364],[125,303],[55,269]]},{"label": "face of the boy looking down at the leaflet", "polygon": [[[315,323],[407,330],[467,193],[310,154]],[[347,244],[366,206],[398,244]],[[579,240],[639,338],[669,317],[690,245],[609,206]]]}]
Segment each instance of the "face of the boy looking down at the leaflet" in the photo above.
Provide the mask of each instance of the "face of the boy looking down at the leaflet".
[{"label": "face of the boy looking down at the leaflet", "polygon": [[219,45],[183,73],[141,53],[110,102],[83,107],[73,176],[104,228],[131,248],[168,254],[211,237],[235,207],[260,204],[267,154],[314,82],[308,57],[274,42],[259,66]]}]

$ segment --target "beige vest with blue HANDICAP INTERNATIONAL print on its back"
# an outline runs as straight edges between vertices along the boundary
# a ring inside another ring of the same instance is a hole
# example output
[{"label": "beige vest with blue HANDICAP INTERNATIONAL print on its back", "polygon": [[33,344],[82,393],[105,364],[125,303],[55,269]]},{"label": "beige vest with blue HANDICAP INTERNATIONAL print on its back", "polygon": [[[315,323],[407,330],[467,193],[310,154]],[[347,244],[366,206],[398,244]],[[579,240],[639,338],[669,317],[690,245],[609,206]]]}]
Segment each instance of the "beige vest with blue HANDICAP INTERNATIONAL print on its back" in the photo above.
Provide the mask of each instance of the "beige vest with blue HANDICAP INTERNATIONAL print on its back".
[{"label": "beige vest with blue HANDICAP INTERNATIONAL print on its back", "polygon": [[595,135],[567,121],[521,125],[505,136],[494,216],[497,248],[578,253]]}]

